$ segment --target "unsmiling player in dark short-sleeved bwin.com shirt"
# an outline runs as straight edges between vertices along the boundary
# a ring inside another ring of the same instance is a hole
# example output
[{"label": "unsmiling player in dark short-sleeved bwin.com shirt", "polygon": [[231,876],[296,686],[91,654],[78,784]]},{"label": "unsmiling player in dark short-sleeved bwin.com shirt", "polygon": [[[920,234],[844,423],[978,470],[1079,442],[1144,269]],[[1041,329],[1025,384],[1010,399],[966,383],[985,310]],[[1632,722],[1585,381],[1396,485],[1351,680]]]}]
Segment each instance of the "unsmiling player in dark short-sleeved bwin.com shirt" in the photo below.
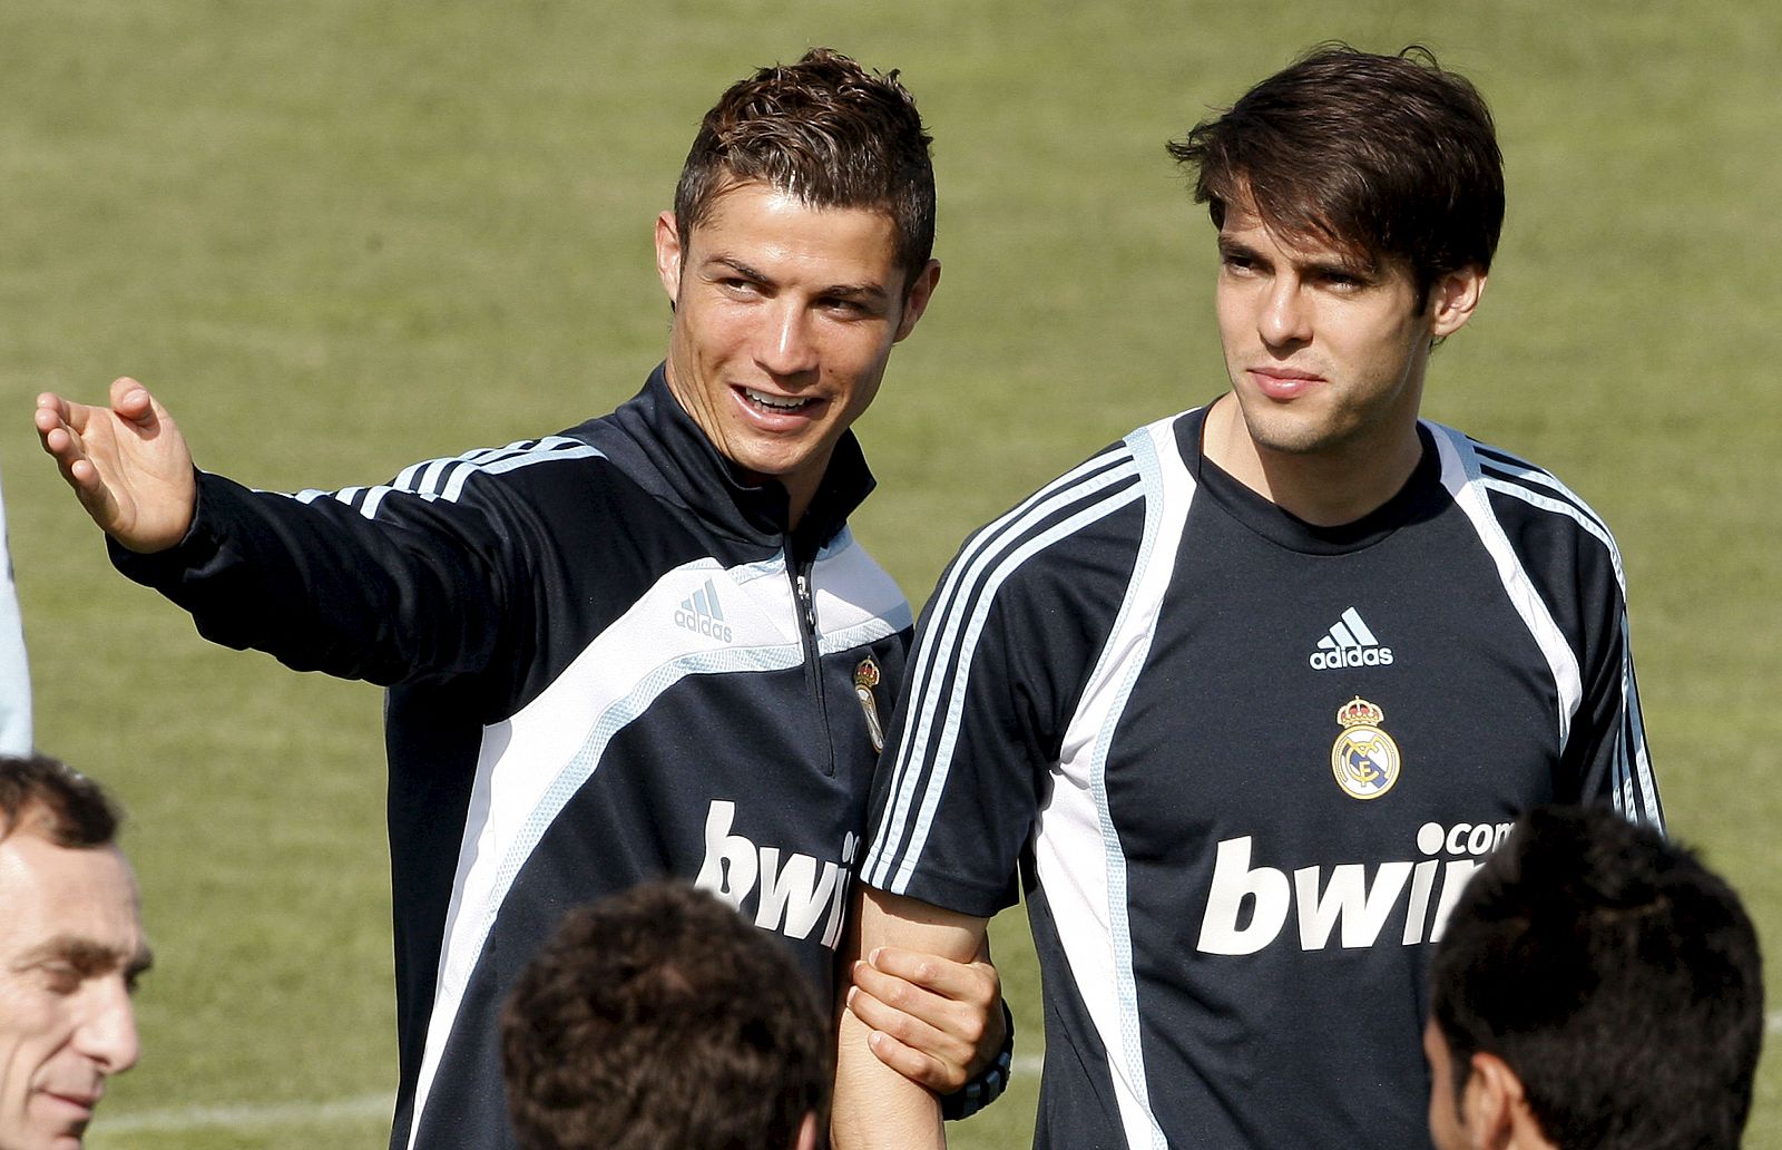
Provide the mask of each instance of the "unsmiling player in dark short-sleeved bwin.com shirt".
[{"label": "unsmiling player in dark short-sleeved bwin.com shirt", "polygon": [[[1231,390],[973,535],[911,654],[859,952],[971,956],[1025,881],[1041,1146],[1427,1146],[1429,943],[1541,801],[1661,818],[1620,558],[1418,419],[1504,212],[1490,114],[1322,48],[1196,127]],[[939,1145],[841,1020],[836,1141]]]}]

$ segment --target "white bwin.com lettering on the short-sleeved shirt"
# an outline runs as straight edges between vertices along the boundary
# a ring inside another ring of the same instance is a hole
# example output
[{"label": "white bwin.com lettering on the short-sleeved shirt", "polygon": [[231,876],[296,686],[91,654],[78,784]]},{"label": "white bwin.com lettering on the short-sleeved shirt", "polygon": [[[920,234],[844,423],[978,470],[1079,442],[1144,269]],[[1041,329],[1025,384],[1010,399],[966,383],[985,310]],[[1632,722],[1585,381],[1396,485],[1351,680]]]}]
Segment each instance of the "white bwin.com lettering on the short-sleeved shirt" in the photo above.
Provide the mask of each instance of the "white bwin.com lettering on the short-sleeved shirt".
[{"label": "white bwin.com lettering on the short-sleeved shirt", "polygon": [[[1256,954],[1279,938],[1288,909],[1299,911],[1301,950],[1324,950],[1333,934],[1345,949],[1372,947],[1401,906],[1404,929],[1399,941],[1406,947],[1436,941],[1454,900],[1479,867],[1477,858],[1490,854],[1506,834],[1508,822],[1459,822],[1452,827],[1427,822],[1417,831],[1418,850],[1436,854],[1445,849],[1463,858],[1379,863],[1372,881],[1365,863],[1338,863],[1329,868],[1328,879],[1322,867],[1301,867],[1288,881],[1283,870],[1249,865],[1253,840],[1247,834],[1228,838],[1219,843],[1214,859],[1198,949],[1203,954]],[[1431,906],[1438,872],[1442,893]]]}]

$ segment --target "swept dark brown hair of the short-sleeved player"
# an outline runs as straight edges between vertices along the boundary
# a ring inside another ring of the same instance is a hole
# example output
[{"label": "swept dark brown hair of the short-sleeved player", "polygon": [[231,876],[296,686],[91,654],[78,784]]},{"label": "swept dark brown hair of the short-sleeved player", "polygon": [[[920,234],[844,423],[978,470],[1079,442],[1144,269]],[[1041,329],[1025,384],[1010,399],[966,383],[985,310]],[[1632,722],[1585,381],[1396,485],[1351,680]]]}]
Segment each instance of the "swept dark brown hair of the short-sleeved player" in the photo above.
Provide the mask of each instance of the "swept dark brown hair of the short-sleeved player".
[{"label": "swept dark brown hair of the short-sleeved player", "polygon": [[1199,169],[1194,200],[1214,226],[1253,205],[1281,239],[1402,262],[1424,301],[1451,271],[1490,271],[1504,226],[1492,112],[1420,45],[1319,45],[1169,153]]}]

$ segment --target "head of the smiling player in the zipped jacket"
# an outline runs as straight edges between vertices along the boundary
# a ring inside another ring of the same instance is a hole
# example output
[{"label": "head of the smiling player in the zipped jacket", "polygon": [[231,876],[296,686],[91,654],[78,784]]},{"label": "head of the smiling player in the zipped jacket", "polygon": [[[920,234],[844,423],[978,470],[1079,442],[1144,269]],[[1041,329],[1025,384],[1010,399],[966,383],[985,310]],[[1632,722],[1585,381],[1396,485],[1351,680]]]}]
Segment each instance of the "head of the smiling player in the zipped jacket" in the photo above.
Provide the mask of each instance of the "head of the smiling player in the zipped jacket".
[{"label": "head of the smiling player in the zipped jacket", "polygon": [[706,112],[656,221],[668,387],[745,480],[786,485],[793,521],[927,308],[932,246],[928,134],[896,71],[813,48]]}]

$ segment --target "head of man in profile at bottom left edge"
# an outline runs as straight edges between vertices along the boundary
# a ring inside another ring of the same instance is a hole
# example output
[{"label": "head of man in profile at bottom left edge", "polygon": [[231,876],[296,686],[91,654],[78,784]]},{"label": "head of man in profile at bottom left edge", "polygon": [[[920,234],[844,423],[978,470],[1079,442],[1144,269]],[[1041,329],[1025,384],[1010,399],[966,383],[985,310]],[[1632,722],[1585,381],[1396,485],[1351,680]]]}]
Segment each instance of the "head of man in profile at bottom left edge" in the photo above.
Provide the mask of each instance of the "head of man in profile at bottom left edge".
[{"label": "head of man in profile at bottom left edge", "polygon": [[0,1150],[78,1146],[135,1064],[148,968],[118,811],[46,756],[0,758]]}]

